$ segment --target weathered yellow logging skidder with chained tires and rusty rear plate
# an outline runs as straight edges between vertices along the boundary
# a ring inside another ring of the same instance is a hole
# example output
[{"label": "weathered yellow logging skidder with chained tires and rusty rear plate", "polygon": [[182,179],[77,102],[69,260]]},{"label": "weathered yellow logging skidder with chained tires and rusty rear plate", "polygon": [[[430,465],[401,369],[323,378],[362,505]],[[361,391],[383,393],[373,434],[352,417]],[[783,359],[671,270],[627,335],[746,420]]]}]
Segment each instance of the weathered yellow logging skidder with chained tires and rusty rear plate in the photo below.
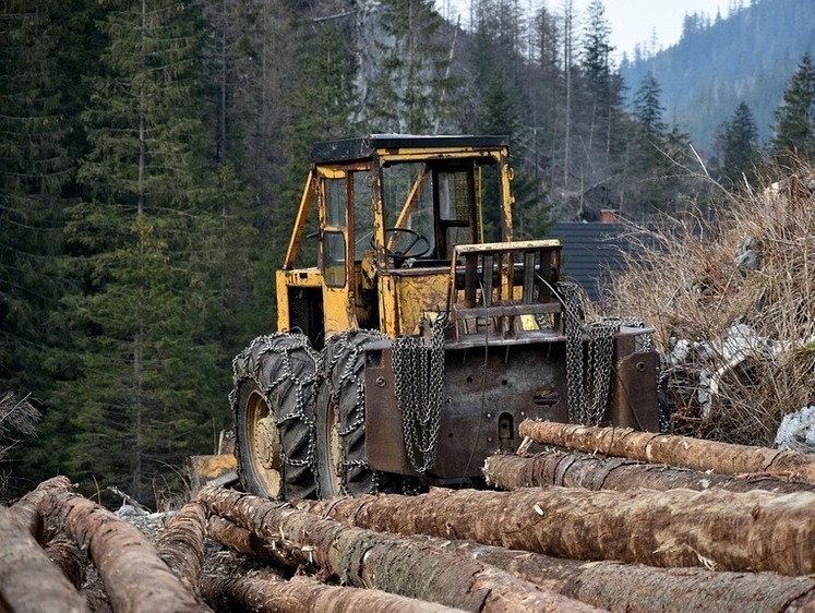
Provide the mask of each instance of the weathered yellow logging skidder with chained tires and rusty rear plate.
[{"label": "weathered yellow logging skidder with chained tires and rusty rear plate", "polygon": [[[659,430],[651,330],[583,320],[560,242],[513,239],[512,180],[502,136],[314,145],[276,277],[278,332],[233,361],[248,491],[480,481],[527,418]],[[296,266],[312,237],[315,256]]]}]

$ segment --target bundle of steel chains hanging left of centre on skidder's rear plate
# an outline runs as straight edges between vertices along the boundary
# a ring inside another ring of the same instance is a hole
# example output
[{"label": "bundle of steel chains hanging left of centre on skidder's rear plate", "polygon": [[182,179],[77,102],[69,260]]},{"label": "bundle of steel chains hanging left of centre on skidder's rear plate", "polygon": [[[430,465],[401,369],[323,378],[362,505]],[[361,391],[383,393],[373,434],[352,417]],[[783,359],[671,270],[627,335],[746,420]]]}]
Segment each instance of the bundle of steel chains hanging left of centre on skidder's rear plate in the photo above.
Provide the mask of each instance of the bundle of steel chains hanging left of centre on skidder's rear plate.
[{"label": "bundle of steel chains hanging left of centre on skidder's rear plate", "polygon": [[424,474],[435,464],[444,390],[444,326],[439,315],[431,338],[399,336],[393,342],[396,400],[401,412],[405,450],[411,466]]}]

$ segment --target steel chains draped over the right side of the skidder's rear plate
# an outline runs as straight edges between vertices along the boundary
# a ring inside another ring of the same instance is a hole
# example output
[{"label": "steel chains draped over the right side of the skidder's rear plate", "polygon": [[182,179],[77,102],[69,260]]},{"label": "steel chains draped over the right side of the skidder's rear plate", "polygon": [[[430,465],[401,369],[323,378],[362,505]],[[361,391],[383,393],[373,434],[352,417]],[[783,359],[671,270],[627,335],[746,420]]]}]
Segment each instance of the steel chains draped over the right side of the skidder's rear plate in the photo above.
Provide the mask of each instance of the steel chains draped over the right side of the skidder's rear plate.
[{"label": "steel chains draped over the right side of the skidder's rear plate", "polygon": [[[599,425],[609,401],[614,336],[620,326],[644,327],[644,324],[635,317],[608,317],[588,324],[583,323],[583,305],[577,286],[562,281],[558,284],[558,291],[563,298],[564,305],[568,421],[583,425]],[[652,346],[650,336],[646,338],[644,349],[648,349],[649,345]]]}]

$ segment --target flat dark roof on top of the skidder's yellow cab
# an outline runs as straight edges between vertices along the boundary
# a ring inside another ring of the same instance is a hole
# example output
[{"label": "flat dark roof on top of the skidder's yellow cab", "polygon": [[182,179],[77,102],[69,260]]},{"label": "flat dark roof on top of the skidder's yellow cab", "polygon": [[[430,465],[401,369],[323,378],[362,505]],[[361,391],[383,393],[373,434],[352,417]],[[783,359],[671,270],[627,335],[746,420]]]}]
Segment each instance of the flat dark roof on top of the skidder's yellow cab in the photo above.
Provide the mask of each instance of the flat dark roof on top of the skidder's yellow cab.
[{"label": "flat dark roof on top of the skidder's yellow cab", "polygon": [[357,139],[324,141],[311,148],[311,160],[316,164],[370,159],[375,149],[487,148],[508,146],[506,136],[369,134]]}]

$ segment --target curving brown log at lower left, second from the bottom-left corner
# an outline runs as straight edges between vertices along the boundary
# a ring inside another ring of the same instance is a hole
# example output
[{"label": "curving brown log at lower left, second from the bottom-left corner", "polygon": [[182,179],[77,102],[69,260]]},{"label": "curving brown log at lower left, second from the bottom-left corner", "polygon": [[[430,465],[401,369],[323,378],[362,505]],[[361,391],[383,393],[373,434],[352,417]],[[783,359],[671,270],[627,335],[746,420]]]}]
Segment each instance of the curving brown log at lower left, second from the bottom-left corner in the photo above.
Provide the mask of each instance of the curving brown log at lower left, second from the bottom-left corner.
[{"label": "curving brown log at lower left, second from the bottom-left corner", "polygon": [[117,612],[208,612],[199,604],[134,526],[71,492],[51,489],[39,506],[87,548]]}]

